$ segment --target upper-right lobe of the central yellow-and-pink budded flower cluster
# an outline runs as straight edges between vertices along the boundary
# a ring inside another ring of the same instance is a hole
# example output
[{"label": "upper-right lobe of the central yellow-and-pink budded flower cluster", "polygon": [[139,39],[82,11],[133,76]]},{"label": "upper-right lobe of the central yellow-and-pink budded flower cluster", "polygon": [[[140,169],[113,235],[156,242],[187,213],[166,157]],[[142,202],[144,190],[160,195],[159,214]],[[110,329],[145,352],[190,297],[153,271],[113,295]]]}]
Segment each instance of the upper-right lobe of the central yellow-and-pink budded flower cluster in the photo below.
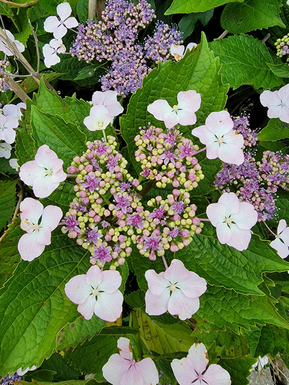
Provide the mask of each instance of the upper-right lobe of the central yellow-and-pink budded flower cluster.
[{"label": "upper-right lobe of the central yellow-and-pink budded flower cluster", "polygon": [[140,127],[140,135],[134,140],[138,146],[135,159],[143,169],[141,175],[155,180],[158,188],[172,184],[190,191],[204,178],[194,157],[199,147],[182,137],[178,129],[171,128],[165,133],[162,128],[148,125],[148,128]]}]

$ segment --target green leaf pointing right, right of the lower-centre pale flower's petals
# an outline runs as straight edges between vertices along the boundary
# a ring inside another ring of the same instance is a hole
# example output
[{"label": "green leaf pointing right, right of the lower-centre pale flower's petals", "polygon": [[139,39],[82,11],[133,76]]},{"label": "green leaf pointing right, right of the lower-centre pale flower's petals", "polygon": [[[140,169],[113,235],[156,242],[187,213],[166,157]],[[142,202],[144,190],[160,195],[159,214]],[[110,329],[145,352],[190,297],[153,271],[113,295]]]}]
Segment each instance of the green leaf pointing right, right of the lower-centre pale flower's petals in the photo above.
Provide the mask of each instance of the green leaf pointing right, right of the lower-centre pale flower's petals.
[{"label": "green leaf pointing right, right of the lower-centre pale flower's petals", "polygon": [[250,326],[266,323],[289,329],[266,296],[246,296],[224,287],[208,286],[200,297],[200,309],[193,315],[192,326],[205,331],[230,328],[239,333],[239,327],[250,330]]}]

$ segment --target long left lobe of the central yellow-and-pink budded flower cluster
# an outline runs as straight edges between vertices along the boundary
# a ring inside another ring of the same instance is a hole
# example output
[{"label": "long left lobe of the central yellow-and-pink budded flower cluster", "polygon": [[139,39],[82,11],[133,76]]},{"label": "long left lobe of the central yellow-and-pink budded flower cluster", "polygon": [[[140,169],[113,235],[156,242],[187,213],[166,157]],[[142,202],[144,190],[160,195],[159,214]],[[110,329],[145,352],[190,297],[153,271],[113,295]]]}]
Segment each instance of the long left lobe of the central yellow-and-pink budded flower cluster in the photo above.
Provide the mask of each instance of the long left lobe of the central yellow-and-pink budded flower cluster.
[{"label": "long left lobe of the central yellow-and-pink budded flower cluster", "polygon": [[[126,164],[110,136],[107,143],[88,142],[86,153],[75,157],[68,168],[68,172],[79,174],[76,198],[62,220],[62,232],[77,237],[77,243],[90,251],[92,265],[102,267],[111,262],[112,270],[124,264],[124,257],[132,251],[131,238],[125,234],[129,228],[126,221],[137,208],[131,188],[142,188],[127,173]],[[112,202],[107,199],[108,191],[114,194]]]}]

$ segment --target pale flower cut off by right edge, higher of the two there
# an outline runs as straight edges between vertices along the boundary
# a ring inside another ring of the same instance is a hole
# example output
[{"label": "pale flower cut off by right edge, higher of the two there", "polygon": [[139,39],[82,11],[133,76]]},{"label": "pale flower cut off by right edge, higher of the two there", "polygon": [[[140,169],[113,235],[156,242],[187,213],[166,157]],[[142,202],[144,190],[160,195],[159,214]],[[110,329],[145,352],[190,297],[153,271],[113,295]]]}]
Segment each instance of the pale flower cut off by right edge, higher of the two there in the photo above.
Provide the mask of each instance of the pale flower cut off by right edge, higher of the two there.
[{"label": "pale flower cut off by right edge, higher of the two there", "polygon": [[260,95],[260,102],[268,107],[268,117],[279,117],[283,122],[289,123],[289,84],[279,91],[264,91]]}]

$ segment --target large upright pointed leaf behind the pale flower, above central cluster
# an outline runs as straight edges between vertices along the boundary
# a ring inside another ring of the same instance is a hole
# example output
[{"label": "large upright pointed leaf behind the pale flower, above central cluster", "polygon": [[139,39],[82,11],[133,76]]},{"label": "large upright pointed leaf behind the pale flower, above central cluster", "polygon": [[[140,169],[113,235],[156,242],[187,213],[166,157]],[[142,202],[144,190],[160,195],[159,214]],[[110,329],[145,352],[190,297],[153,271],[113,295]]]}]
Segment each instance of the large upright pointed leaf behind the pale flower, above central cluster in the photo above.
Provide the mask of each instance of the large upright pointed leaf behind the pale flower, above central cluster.
[{"label": "large upright pointed leaf behind the pale flower, above central cluster", "polygon": [[187,52],[178,62],[168,60],[160,63],[158,69],[154,69],[144,78],[142,88],[130,98],[127,113],[120,117],[121,133],[136,170],[141,170],[134,156],[137,149],[134,137],[139,133],[138,127],[151,122],[152,125],[165,129],[164,122],[155,119],[147,111],[147,106],[157,99],[166,99],[173,106],[177,103],[178,92],[196,90],[202,97],[201,108],[196,112],[197,124],[181,127],[181,132],[192,138],[192,128],[205,124],[206,117],[212,111],[220,111],[225,107],[228,86],[223,85],[219,70],[219,59],[209,51],[206,37],[202,34],[196,51]]}]

